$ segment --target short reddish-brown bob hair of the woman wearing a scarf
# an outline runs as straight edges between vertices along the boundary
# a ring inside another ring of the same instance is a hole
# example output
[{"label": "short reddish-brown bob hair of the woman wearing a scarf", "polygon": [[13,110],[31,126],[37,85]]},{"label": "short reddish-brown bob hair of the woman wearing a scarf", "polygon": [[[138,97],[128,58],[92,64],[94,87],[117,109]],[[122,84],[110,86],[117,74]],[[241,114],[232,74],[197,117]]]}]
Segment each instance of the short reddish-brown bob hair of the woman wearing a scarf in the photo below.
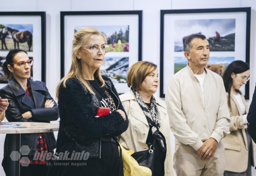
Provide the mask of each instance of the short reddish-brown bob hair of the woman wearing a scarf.
[{"label": "short reddish-brown bob hair of the woman wearing a scarf", "polygon": [[128,87],[132,87],[134,90],[139,91],[146,76],[155,71],[156,67],[156,64],[148,61],[139,61],[133,64],[127,73]]}]

